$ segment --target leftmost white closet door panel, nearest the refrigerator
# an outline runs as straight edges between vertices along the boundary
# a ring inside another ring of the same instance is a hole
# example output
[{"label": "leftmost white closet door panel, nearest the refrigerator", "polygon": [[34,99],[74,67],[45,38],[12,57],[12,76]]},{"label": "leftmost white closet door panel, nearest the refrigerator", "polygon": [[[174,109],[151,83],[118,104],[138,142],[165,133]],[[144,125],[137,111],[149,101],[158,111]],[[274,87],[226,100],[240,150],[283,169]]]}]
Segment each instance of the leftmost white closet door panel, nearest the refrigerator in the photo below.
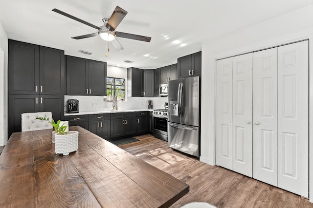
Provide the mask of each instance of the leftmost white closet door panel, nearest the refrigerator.
[{"label": "leftmost white closet door panel, nearest the refrigerator", "polygon": [[232,58],[216,62],[216,164],[232,169]]}]

